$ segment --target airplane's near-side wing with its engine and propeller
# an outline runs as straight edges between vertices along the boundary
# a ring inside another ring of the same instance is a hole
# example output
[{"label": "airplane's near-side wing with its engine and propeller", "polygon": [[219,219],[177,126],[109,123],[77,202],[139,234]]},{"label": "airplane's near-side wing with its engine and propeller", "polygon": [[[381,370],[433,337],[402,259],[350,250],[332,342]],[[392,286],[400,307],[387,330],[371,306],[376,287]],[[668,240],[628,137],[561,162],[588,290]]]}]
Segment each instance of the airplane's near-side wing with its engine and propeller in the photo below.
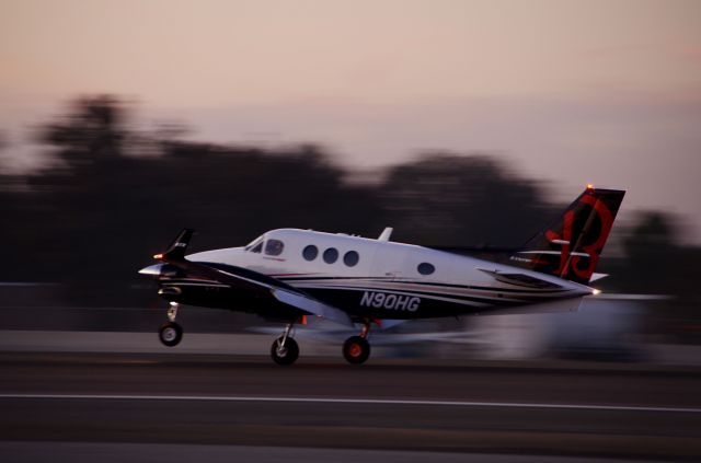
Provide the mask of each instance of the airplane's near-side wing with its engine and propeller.
[{"label": "airplane's near-side wing with its engine and propeller", "polygon": [[322,316],[342,325],[353,326],[353,321],[344,311],[311,298],[276,278],[233,265],[187,261],[185,258],[185,250],[192,235],[192,230],[183,230],[169,251],[157,254],[153,257],[181,268],[188,275],[217,281],[261,297],[272,298],[277,302],[299,309],[308,314]]}]

